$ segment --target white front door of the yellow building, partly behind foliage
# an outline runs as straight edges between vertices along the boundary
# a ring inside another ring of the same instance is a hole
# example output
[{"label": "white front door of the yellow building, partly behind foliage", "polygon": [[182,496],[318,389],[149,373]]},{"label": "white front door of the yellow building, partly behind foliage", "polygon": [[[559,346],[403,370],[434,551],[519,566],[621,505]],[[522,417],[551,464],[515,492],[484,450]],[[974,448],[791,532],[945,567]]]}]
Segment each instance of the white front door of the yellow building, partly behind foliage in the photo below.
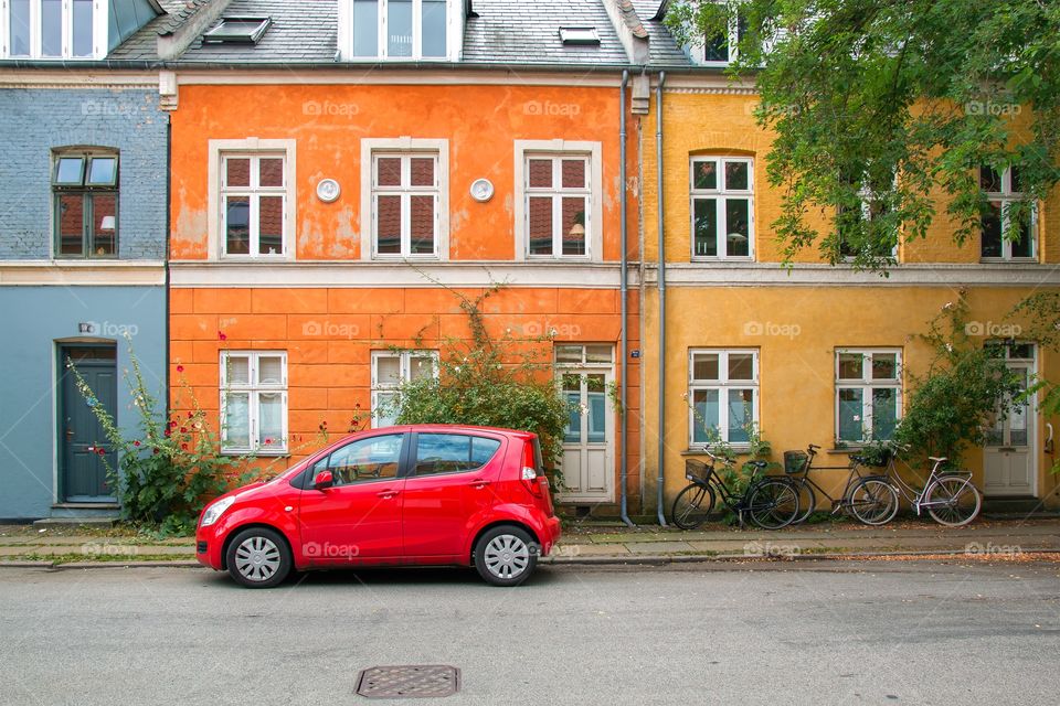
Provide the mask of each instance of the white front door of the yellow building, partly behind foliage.
[{"label": "white front door of the yellow building, partly behind foliage", "polygon": [[[1021,389],[1027,389],[1034,373],[1034,363],[1011,361],[1010,370],[1019,376]],[[998,417],[986,434],[983,450],[983,491],[986,495],[1035,494],[1035,425],[1030,402],[1011,409],[1005,418]]]}]

